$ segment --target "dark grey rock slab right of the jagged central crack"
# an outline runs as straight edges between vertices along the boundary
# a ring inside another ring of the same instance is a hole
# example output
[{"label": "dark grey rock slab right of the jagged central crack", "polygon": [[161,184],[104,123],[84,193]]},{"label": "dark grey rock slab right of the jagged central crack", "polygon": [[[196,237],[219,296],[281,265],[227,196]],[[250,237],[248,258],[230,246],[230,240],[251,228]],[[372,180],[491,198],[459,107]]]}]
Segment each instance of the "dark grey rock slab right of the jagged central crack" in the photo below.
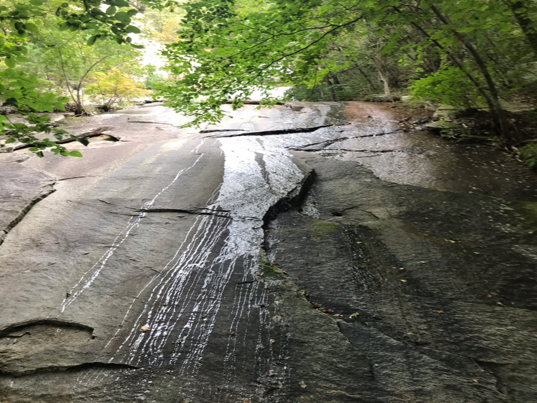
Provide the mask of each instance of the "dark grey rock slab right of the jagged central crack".
[{"label": "dark grey rock slab right of the jagged central crack", "polygon": [[535,204],[396,185],[303,154],[317,217],[280,214],[269,256],[371,360],[361,393],[533,401]]}]

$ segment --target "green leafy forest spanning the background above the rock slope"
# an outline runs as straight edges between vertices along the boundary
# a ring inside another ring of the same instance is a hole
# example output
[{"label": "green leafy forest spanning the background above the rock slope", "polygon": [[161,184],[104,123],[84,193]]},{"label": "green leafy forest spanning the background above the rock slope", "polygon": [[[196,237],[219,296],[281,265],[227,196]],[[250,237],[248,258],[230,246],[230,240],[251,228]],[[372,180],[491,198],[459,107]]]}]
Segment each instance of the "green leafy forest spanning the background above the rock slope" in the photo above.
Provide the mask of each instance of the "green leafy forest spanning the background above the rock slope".
[{"label": "green leafy forest spanning the background above the rock slope", "polygon": [[48,113],[151,93],[199,126],[287,85],[296,100],[449,105],[536,166],[536,21],[533,0],[1,0],[0,129],[80,156]]}]

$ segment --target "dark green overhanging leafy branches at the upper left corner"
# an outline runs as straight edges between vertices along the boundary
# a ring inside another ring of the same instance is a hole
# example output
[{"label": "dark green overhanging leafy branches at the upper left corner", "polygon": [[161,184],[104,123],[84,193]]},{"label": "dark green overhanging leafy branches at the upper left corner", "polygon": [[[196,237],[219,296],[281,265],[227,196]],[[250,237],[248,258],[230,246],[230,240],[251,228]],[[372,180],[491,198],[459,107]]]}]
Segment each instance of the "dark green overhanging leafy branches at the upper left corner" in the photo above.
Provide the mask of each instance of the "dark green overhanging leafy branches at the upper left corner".
[{"label": "dark green overhanging leafy branches at the upper left corner", "polygon": [[[142,0],[140,4],[162,9],[176,2]],[[0,57],[5,64],[0,71],[0,93],[3,106],[16,110],[26,120],[26,123],[13,123],[5,115],[0,115],[0,130],[8,136],[6,144],[18,141],[33,145],[30,150],[39,156],[46,149],[55,154],[78,156],[78,152],[69,153],[56,142],[68,133],[53,125],[47,114],[42,114],[65,111],[64,104],[69,97],[57,88],[43,89],[36,75],[25,72],[24,63],[31,62],[28,52],[35,51],[35,47],[43,43],[45,31],[50,26],[55,27],[53,34],[56,37],[62,31],[71,35],[83,32],[88,46],[95,45],[97,41],[114,41],[117,45],[140,48],[140,45],[132,44],[129,37],[129,34],[140,33],[140,29],[132,24],[137,12],[139,10],[126,0],[4,0],[0,3],[0,24],[3,28],[0,31]],[[46,20],[45,24],[43,20]],[[46,47],[56,46],[44,43]],[[65,71],[63,73],[66,75]],[[89,73],[91,71],[86,71],[86,74]],[[48,134],[55,140],[44,137]],[[85,139],[71,138],[87,144]]]}]

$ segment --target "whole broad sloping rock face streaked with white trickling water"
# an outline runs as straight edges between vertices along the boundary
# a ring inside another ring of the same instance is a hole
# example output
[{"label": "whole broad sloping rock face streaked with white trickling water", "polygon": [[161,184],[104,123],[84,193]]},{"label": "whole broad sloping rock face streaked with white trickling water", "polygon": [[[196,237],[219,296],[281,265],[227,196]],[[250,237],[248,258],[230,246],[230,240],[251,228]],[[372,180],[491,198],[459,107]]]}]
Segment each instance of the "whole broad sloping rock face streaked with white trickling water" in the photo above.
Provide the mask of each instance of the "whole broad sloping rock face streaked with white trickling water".
[{"label": "whole broad sloping rock face streaked with white trickling water", "polygon": [[383,181],[341,160],[396,154],[389,113],[295,106],[121,111],[85,165],[17,164],[105,172],[0,249],[2,403],[534,400],[535,204]]}]

